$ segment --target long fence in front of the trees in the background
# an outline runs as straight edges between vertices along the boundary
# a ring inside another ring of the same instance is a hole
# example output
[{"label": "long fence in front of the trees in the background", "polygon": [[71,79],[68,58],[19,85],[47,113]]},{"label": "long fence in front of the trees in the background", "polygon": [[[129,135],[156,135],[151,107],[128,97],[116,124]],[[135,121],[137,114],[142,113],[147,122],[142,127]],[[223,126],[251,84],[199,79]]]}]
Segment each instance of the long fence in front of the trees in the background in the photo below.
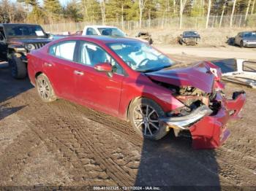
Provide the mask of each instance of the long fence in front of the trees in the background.
[{"label": "long fence in front of the trees in the background", "polygon": [[[208,20],[208,28],[255,28],[256,27],[256,15],[234,15],[233,20],[230,23],[231,16],[214,16],[211,15]],[[63,31],[80,31],[83,30],[84,26],[89,25],[102,25],[102,23],[89,23],[89,22],[79,22],[79,23],[55,23],[49,25],[43,25],[45,31],[51,33],[60,33]],[[105,25],[117,26],[122,28],[124,31],[134,31],[134,30],[150,30],[156,28],[179,28],[179,17],[170,18],[157,18],[154,20],[143,20],[141,23],[139,21],[116,21],[116,22],[106,22]],[[206,28],[206,17],[183,17],[182,18],[182,28]]]}]

